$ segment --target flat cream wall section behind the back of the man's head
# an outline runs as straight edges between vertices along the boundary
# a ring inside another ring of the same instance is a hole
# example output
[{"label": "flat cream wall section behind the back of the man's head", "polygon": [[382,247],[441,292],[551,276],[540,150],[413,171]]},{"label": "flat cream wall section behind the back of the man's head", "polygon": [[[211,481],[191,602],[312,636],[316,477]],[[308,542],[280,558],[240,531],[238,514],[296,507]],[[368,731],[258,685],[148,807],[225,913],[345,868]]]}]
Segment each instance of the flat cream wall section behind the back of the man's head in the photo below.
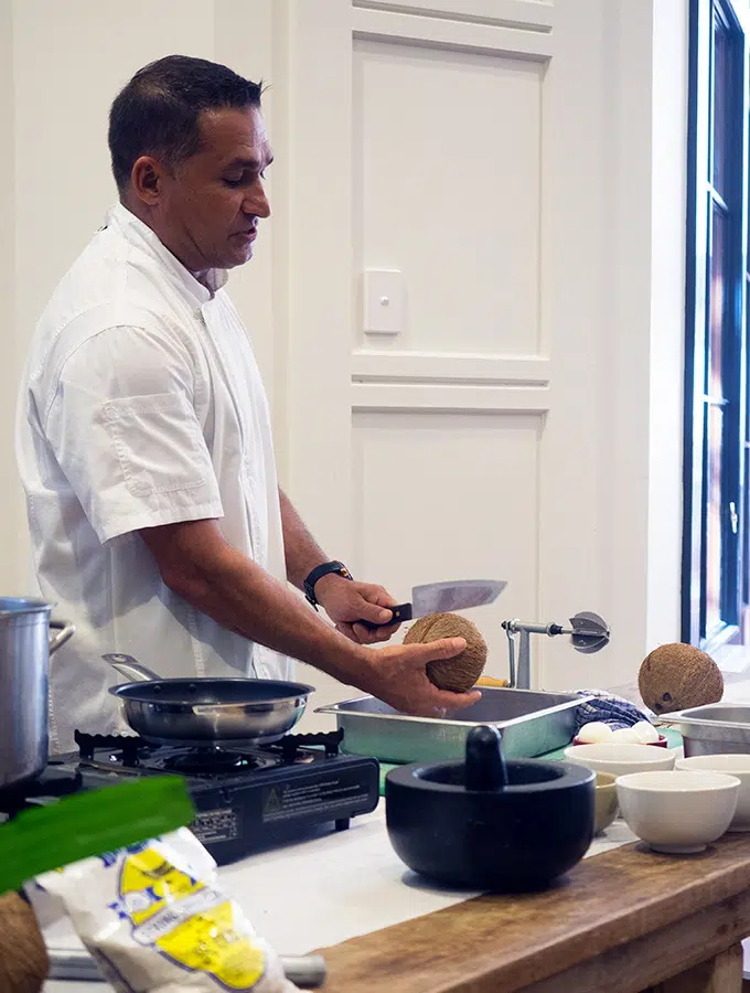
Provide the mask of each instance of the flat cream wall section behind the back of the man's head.
[{"label": "flat cream wall section behind the back of the man's head", "polygon": [[[153,58],[173,52],[212,57],[214,10],[201,0],[164,0],[159,15],[148,0],[127,9],[96,0],[24,0],[14,12],[18,321],[29,338],[117,199],[109,105]],[[40,113],[50,104],[54,113]]]}]

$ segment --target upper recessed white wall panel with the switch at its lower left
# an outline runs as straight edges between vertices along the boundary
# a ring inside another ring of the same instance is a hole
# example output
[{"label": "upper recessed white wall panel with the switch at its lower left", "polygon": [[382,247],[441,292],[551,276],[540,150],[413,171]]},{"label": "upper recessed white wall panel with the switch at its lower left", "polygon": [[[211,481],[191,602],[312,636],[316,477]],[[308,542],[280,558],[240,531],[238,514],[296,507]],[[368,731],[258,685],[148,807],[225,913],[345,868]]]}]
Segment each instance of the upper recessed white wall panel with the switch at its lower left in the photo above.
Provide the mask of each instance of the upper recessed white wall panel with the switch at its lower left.
[{"label": "upper recessed white wall panel with the switch at its lower left", "polygon": [[[544,68],[356,41],[355,273],[404,273],[406,330],[360,346],[533,354]],[[478,113],[481,108],[481,113]]]}]

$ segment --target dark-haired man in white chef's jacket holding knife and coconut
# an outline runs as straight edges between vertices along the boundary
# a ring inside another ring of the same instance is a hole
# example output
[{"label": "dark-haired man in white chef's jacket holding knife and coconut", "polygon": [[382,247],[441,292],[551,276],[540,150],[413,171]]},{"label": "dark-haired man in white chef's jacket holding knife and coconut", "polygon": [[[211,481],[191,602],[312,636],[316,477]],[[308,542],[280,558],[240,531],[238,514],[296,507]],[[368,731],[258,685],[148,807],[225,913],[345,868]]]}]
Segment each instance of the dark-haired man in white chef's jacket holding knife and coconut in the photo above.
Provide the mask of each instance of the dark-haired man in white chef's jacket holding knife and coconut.
[{"label": "dark-haired man in white chef's jacket holding knife and coconut", "polygon": [[401,711],[472,703],[426,674],[461,639],[368,648],[393,634],[395,601],[330,562],[278,489],[262,384],[222,288],[270,213],[260,88],[162,58],[113,104],[109,148],[120,202],[50,300],[19,405],[40,587],[77,627],[52,666],[52,750],[75,728],[122,729],[104,652],[162,676],[285,679],[302,659]]}]

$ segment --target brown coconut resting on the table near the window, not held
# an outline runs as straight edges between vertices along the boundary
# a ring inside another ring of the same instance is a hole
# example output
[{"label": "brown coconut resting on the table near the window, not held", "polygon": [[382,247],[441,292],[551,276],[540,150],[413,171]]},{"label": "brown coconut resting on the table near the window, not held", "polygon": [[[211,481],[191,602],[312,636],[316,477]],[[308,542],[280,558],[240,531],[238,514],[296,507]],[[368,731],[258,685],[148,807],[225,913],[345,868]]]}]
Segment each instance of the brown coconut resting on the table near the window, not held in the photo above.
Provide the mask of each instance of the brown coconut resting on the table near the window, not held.
[{"label": "brown coconut resting on the table near the window, not held", "polygon": [[638,677],[643,703],[655,714],[718,703],[724,676],[706,652],[692,644],[663,644],[646,655]]}]

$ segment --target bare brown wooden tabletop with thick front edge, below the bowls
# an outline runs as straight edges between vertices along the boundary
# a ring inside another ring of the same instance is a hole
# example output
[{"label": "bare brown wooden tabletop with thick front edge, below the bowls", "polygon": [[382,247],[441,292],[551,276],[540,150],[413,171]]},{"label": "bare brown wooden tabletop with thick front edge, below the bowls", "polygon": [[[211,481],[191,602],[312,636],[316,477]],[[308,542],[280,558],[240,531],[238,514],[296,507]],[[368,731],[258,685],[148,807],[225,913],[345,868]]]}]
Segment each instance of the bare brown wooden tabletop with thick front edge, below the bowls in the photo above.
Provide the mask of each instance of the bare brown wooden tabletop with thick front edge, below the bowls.
[{"label": "bare brown wooden tabletop with thick front edge, below the bowls", "polygon": [[625,845],[545,893],[482,896],[322,953],[326,993],[638,993],[748,935],[750,835],[730,834],[692,856]]}]

